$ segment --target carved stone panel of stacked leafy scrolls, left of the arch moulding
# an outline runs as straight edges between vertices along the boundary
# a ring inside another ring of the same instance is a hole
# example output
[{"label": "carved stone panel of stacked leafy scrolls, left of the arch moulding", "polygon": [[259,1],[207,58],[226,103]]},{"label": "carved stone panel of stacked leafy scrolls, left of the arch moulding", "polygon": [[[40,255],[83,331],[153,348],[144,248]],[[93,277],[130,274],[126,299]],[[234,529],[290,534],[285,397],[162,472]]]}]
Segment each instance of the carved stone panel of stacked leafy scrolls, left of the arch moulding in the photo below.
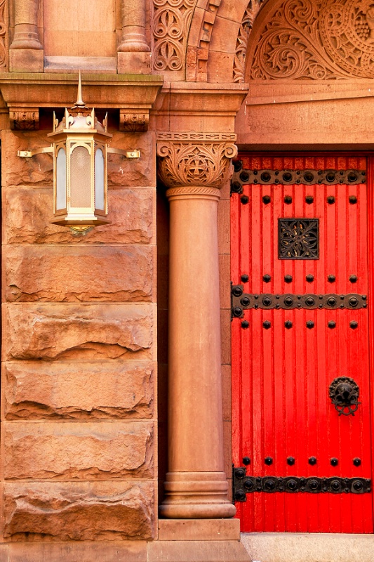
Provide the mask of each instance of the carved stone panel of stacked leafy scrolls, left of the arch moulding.
[{"label": "carved stone panel of stacked leafy scrolls, left of the arch moulding", "polygon": [[154,68],[182,70],[197,0],[154,0]]}]

